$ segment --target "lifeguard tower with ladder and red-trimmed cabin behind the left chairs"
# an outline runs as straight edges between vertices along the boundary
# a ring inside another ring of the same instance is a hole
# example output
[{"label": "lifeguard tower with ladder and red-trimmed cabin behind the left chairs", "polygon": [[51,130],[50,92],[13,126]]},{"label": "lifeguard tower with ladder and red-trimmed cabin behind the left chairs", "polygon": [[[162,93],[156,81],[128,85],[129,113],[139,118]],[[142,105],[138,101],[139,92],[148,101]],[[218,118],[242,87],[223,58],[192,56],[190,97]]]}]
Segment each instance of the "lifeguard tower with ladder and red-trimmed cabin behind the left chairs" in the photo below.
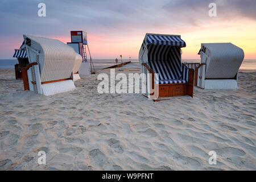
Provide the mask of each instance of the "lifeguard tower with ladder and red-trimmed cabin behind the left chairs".
[{"label": "lifeguard tower with ladder and red-trimmed cabin behind the left chairs", "polygon": [[[69,46],[82,56],[82,64],[79,68],[79,75],[90,76],[95,74],[95,69],[90,55],[90,49],[87,41],[87,33],[85,31],[71,31],[71,42],[67,43]],[[86,47],[89,53],[89,60],[86,52]]]}]

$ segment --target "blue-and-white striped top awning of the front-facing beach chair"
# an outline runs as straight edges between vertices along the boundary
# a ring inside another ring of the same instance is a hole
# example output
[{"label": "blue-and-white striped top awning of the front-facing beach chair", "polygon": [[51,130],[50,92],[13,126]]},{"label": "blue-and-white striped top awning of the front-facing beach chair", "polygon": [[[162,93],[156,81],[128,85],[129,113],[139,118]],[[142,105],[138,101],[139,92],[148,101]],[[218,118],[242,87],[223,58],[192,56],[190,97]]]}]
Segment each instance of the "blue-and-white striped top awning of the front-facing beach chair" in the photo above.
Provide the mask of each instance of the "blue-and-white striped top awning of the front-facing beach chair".
[{"label": "blue-and-white striped top awning of the front-facing beach chair", "polygon": [[179,36],[157,34],[147,35],[147,44],[186,47],[186,43]]}]

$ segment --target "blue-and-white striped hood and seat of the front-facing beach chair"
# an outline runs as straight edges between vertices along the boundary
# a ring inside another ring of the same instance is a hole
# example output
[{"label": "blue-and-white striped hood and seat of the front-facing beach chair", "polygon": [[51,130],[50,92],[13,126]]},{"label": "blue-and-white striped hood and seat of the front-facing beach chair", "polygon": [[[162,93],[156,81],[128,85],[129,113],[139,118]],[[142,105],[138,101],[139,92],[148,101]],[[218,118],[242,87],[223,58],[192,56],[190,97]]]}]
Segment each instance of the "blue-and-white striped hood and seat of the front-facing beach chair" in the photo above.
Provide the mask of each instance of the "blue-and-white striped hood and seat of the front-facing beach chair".
[{"label": "blue-and-white striped hood and seat of the front-facing beach chair", "polygon": [[177,84],[188,81],[188,68],[181,63],[180,35],[146,34],[139,51],[139,61],[155,74],[155,84]]}]

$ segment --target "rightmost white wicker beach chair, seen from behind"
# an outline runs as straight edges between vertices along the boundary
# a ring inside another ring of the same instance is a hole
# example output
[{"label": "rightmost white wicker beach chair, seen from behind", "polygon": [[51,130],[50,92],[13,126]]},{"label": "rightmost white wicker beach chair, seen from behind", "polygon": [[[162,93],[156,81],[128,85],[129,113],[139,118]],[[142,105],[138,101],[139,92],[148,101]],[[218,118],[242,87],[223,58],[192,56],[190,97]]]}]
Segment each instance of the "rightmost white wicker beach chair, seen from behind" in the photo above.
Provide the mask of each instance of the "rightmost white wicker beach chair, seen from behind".
[{"label": "rightmost white wicker beach chair, seen from behind", "polygon": [[196,68],[195,85],[202,89],[237,89],[243,50],[232,43],[202,43],[201,64]]}]

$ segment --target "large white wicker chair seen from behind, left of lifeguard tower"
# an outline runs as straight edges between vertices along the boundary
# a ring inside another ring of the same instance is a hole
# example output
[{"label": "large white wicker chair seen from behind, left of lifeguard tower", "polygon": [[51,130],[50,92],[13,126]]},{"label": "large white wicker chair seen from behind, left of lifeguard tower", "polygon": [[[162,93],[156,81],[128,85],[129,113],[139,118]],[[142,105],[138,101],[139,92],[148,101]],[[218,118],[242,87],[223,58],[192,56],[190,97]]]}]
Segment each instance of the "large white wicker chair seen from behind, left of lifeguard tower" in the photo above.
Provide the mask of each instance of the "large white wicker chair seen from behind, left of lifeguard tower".
[{"label": "large white wicker chair seen from behind, left of lifeguard tower", "polygon": [[30,62],[22,71],[24,89],[46,96],[74,90],[74,49],[56,39],[23,37]]}]

